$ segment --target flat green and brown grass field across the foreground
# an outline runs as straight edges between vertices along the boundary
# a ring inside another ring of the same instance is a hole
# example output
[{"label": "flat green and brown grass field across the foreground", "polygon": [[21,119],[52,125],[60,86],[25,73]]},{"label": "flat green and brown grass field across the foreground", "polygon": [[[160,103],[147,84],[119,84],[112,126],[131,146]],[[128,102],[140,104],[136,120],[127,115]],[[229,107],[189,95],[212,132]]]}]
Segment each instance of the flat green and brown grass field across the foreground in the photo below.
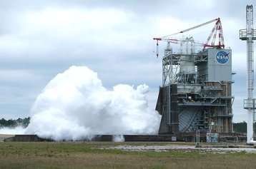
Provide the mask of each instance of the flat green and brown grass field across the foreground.
[{"label": "flat green and brown grass field across the foreground", "polygon": [[109,150],[172,143],[0,142],[0,168],[256,168],[255,153]]}]

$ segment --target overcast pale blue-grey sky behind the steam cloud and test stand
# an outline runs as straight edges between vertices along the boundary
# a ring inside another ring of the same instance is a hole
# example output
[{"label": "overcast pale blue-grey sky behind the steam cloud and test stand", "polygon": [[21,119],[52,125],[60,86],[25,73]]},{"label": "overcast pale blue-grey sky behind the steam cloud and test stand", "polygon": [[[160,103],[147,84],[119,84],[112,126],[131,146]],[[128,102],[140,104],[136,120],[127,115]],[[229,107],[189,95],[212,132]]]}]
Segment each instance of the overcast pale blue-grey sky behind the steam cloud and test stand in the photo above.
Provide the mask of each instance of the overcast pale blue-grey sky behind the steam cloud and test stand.
[{"label": "overcast pale blue-grey sky behind the steam cloud and test stand", "polygon": [[[108,89],[146,83],[154,108],[162,56],[156,57],[152,38],[220,17],[237,72],[234,121],[246,121],[246,42],[239,30],[245,29],[247,4],[256,8],[252,0],[0,0],[0,118],[30,116],[46,84],[73,65],[96,71]],[[198,32],[200,41],[206,41],[213,24]]]}]

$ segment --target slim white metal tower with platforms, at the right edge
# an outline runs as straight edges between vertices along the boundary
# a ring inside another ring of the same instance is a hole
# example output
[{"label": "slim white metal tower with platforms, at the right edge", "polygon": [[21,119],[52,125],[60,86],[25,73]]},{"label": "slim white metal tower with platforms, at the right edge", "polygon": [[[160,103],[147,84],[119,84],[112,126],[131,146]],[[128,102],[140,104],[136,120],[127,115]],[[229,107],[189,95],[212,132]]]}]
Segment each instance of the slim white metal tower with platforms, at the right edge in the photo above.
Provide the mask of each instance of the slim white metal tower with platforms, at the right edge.
[{"label": "slim white metal tower with platforms, at the right edge", "polygon": [[256,39],[253,29],[253,7],[246,6],[246,29],[240,30],[240,39],[247,41],[247,99],[244,100],[244,108],[247,109],[247,143],[253,143],[253,122],[255,112],[254,89],[254,68],[253,68],[253,40]]}]

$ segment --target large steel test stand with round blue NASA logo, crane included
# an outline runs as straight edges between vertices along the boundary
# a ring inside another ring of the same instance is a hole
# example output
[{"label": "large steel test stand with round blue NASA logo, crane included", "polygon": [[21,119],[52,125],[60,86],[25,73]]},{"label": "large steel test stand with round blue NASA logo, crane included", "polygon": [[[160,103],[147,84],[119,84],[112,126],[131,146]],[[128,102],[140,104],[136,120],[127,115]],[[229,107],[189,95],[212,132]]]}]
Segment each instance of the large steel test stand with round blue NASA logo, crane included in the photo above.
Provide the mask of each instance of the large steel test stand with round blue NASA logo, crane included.
[{"label": "large steel test stand with round blue NASA logo, crane included", "polygon": [[[167,41],[162,58],[162,86],[156,106],[162,115],[159,134],[182,137],[195,135],[197,130],[232,133],[232,50],[225,49],[220,18],[205,24],[213,21],[217,22],[201,51],[196,52],[192,37],[154,39]],[[212,43],[209,43],[211,37]],[[218,45],[215,45],[216,37],[219,37]],[[178,44],[179,51],[173,51],[170,43]]]}]

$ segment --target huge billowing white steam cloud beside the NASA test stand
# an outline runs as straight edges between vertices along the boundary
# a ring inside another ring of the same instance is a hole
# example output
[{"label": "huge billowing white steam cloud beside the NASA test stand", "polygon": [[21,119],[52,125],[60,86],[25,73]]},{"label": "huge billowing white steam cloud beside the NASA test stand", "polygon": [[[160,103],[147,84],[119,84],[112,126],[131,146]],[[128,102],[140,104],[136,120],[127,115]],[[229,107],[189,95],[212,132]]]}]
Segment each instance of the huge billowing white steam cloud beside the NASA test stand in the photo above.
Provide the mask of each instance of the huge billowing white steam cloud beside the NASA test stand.
[{"label": "huge billowing white steam cloud beside the NASA test stand", "polygon": [[157,134],[160,116],[147,104],[148,91],[147,85],[125,84],[108,91],[97,73],[86,66],[72,66],[53,78],[36,98],[26,134],[53,140]]}]

